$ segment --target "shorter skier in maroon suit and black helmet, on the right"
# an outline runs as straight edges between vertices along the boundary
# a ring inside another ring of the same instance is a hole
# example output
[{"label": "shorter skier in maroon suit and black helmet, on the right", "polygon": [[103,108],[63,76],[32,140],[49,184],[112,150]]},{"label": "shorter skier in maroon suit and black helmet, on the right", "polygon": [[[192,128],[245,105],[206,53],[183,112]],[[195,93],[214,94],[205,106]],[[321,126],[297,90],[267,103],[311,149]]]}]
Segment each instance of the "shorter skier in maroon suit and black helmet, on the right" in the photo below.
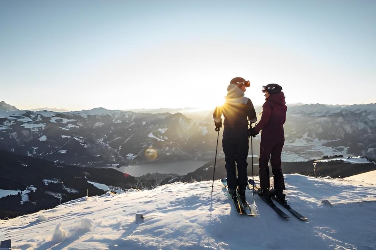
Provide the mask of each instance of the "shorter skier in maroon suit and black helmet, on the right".
[{"label": "shorter skier in maroon suit and black helmet, on the right", "polygon": [[[286,121],[286,102],[282,87],[278,84],[268,84],[262,87],[265,93],[265,103],[262,105],[260,122],[249,129],[249,135],[255,137],[261,131],[260,143],[260,187],[259,194],[271,200],[271,195],[285,201],[285,182],[281,167],[282,148],[285,143],[283,124]],[[274,190],[270,191],[269,160],[274,178]]]}]

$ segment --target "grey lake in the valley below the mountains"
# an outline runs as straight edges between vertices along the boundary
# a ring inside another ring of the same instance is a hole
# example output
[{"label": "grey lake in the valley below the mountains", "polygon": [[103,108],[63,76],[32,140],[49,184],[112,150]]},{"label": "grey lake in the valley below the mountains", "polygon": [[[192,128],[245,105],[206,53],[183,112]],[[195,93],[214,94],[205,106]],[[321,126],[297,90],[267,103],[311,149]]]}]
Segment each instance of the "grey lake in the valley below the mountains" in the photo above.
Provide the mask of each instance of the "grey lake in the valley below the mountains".
[{"label": "grey lake in the valley below the mountains", "polygon": [[133,166],[105,166],[105,168],[113,168],[123,173],[139,177],[147,173],[174,173],[178,175],[186,175],[205,165],[207,161],[174,161],[167,163],[146,163]]}]

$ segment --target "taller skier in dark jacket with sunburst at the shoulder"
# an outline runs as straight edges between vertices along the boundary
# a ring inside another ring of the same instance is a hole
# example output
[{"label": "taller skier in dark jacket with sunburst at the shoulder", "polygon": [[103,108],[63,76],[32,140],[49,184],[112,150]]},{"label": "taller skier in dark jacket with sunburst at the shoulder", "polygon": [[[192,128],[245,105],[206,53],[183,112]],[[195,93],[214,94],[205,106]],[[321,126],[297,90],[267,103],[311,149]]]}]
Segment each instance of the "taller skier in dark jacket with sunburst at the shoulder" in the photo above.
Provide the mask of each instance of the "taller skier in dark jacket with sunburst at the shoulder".
[{"label": "taller skier in dark jacket with sunburst at the shoulder", "polygon": [[[248,125],[257,120],[252,101],[244,96],[246,87],[249,87],[249,81],[241,77],[233,78],[227,87],[225,104],[216,107],[213,113],[216,131],[222,127],[221,116],[224,116],[222,148],[229,192],[233,198],[237,198],[238,187],[238,194],[242,199],[246,197],[248,184]],[[235,167],[238,169],[238,176]]]}]

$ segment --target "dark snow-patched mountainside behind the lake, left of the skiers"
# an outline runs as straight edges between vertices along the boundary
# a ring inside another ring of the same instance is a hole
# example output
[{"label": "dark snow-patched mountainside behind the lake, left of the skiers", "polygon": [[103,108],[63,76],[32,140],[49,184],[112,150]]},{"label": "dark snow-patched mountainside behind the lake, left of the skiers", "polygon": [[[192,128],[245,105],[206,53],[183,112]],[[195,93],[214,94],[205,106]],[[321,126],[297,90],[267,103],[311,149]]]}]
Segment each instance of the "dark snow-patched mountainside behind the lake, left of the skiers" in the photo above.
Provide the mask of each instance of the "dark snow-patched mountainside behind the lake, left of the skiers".
[{"label": "dark snow-patched mountainside behind the lake, left of the skiers", "polygon": [[0,149],[83,166],[197,158],[215,143],[214,129],[180,113],[94,108],[3,111],[0,117]]}]

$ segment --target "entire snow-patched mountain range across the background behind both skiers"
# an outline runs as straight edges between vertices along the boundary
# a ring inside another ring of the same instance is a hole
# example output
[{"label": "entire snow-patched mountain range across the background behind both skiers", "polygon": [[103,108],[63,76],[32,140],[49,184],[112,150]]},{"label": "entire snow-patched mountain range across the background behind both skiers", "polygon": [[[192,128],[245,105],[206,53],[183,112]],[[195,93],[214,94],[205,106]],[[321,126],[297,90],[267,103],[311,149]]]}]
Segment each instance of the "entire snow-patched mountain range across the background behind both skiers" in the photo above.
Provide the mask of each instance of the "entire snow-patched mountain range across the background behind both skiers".
[{"label": "entire snow-patched mountain range across the background behind both skiers", "polygon": [[[194,116],[194,111],[186,110]],[[0,110],[0,117],[1,149],[66,164],[210,159],[215,152],[211,111],[206,111],[203,121],[181,113],[105,108],[71,112]],[[284,128],[284,161],[335,154],[376,160],[376,104],[292,105]],[[218,150],[223,154],[221,143]],[[259,136],[253,139],[253,154],[258,151]]]}]

